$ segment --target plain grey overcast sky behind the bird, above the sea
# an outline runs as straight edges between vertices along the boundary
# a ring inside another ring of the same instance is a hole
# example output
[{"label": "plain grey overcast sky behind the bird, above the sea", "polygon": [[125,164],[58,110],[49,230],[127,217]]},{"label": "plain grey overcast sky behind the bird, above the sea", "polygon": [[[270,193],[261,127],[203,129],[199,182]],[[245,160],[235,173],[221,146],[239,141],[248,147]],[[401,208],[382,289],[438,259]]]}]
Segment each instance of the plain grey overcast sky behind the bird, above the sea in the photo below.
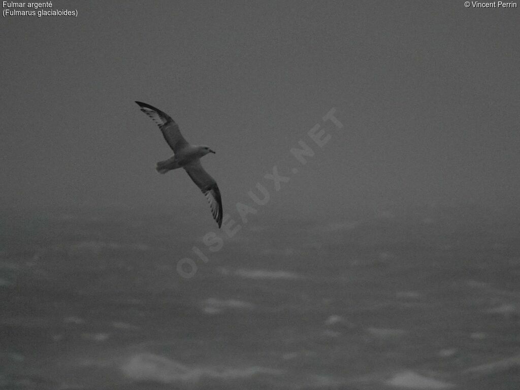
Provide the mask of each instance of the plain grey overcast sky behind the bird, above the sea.
[{"label": "plain grey overcast sky behind the bird, above the sea", "polygon": [[[211,214],[134,100],[169,113],[224,211],[257,181],[270,212],[384,204],[515,206],[520,8],[449,2],[53,2],[73,17],[0,21],[0,201]],[[275,193],[297,141],[344,124]],[[251,201],[249,201],[251,203]],[[266,211],[267,212],[267,211]]]}]

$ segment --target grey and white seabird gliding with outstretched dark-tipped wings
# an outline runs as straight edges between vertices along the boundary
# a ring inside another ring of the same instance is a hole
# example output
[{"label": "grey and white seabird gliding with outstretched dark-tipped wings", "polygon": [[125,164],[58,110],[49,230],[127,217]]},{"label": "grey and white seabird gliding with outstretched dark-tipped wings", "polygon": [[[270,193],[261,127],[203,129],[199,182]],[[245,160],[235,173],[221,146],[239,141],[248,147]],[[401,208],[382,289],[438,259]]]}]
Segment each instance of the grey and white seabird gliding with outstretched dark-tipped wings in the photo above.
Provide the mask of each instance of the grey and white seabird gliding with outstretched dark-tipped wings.
[{"label": "grey and white seabird gliding with outstretched dark-tipped wings", "polygon": [[190,145],[183,135],[177,123],[170,115],[146,103],[136,101],[141,111],[147,114],[155,124],[159,126],[166,140],[172,148],[174,155],[164,161],[159,161],[155,169],[164,174],[177,168],[184,170],[191,177],[191,180],[200,188],[207,201],[210,203],[211,213],[216,220],[218,227],[222,225],[222,198],[217,182],[207,173],[200,159],[208,153],[215,153],[206,145]]}]

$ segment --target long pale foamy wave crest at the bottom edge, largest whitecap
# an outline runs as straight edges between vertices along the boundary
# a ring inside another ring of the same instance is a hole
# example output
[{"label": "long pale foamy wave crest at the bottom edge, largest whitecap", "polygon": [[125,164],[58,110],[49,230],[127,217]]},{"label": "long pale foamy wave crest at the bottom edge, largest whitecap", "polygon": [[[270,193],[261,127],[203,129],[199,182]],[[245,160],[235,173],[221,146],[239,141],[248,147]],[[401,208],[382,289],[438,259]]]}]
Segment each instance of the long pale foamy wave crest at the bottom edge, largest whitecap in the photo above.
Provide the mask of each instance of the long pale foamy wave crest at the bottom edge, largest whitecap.
[{"label": "long pale foamy wave crest at the bottom edge, largest whitecap", "polygon": [[121,366],[121,371],[136,381],[153,381],[162,383],[196,382],[201,378],[243,379],[258,374],[278,375],[280,370],[252,366],[244,368],[193,368],[150,353],[132,356]]}]

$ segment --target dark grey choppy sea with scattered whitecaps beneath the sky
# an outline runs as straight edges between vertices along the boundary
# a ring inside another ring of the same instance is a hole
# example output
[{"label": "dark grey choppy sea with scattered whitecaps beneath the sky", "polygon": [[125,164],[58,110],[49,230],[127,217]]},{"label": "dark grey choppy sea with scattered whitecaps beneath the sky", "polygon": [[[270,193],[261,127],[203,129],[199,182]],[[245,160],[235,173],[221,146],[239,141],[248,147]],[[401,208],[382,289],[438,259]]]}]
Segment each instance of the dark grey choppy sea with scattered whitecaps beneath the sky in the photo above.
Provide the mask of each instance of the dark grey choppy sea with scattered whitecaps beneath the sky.
[{"label": "dark grey choppy sea with scattered whitecaps beneath the sky", "polygon": [[0,388],[520,389],[516,216],[258,218],[211,252],[214,227],[2,211]]}]

